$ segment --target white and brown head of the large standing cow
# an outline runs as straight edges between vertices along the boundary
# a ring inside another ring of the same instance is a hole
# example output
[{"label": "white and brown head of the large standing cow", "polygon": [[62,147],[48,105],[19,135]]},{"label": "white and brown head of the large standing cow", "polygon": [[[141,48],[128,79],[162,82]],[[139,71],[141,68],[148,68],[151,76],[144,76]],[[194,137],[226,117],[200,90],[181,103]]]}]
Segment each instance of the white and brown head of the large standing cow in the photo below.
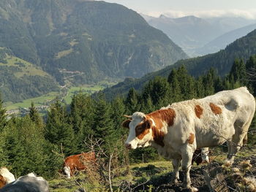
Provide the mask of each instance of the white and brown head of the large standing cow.
[{"label": "white and brown head of the large standing cow", "polygon": [[153,121],[147,118],[143,112],[135,112],[128,120],[124,120],[122,126],[129,128],[129,136],[125,142],[127,149],[146,147],[153,140],[151,125]]}]

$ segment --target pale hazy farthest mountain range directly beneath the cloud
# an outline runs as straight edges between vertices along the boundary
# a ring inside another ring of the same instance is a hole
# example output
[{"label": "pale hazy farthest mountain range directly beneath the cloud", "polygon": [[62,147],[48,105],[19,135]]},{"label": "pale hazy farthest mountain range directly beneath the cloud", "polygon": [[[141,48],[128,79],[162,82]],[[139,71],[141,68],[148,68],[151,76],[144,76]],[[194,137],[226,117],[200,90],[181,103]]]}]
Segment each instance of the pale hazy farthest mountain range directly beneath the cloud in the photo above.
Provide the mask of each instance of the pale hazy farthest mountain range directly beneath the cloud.
[{"label": "pale hazy farthest mountain range directly beneath the cloud", "polygon": [[[197,18],[193,15],[183,18],[159,18],[143,15],[149,25],[162,30],[190,56],[200,55],[197,49],[203,47],[213,39],[246,25],[255,20],[245,18]],[[206,53],[207,54],[207,53]]]}]

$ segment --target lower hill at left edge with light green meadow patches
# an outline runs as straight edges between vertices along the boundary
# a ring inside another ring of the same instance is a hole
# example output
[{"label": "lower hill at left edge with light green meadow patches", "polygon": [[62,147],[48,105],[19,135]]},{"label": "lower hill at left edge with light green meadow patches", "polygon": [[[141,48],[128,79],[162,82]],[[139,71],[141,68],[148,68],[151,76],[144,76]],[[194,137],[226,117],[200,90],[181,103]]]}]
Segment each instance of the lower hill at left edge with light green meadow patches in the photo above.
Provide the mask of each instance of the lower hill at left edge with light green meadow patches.
[{"label": "lower hill at left edge with light green meadow patches", "polygon": [[13,55],[0,47],[0,92],[4,101],[21,101],[50,91],[58,91],[58,83],[39,66]]}]

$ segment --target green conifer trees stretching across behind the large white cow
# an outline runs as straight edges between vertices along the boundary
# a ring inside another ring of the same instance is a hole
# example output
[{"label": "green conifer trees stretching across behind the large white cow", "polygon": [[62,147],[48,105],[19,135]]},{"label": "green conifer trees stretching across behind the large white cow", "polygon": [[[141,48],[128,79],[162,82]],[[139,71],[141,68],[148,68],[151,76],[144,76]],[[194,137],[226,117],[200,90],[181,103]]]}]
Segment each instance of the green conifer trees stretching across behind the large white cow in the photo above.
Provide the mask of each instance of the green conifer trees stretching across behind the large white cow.
[{"label": "green conifer trees stretching across behind the large white cow", "polygon": [[[16,176],[36,172],[46,178],[54,177],[63,163],[62,153],[68,156],[90,150],[85,143],[88,137],[101,139],[106,153],[118,152],[113,157],[116,166],[154,161],[159,156],[151,147],[125,150],[128,130],[121,127],[124,114],[148,113],[173,102],[202,98],[244,85],[256,95],[255,69],[256,55],[247,61],[236,59],[225,77],[219,77],[214,69],[192,77],[180,66],[167,78],[150,80],[140,93],[131,88],[126,97],[116,96],[111,101],[101,93],[95,98],[75,94],[69,105],[56,99],[45,117],[33,103],[28,115],[7,117],[0,99],[0,166],[8,166]],[[254,120],[251,130],[255,129]],[[255,144],[255,139],[249,133],[249,144]]]}]

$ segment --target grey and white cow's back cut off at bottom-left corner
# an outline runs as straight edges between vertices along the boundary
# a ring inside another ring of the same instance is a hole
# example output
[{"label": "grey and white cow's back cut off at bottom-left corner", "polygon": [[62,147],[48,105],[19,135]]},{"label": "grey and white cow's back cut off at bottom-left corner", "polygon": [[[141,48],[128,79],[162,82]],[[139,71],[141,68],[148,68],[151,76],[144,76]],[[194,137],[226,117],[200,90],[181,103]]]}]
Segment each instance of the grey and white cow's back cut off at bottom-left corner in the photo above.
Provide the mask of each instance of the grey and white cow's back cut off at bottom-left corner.
[{"label": "grey and white cow's back cut off at bottom-left corner", "polygon": [[49,192],[49,185],[44,178],[30,173],[5,185],[0,192]]}]

